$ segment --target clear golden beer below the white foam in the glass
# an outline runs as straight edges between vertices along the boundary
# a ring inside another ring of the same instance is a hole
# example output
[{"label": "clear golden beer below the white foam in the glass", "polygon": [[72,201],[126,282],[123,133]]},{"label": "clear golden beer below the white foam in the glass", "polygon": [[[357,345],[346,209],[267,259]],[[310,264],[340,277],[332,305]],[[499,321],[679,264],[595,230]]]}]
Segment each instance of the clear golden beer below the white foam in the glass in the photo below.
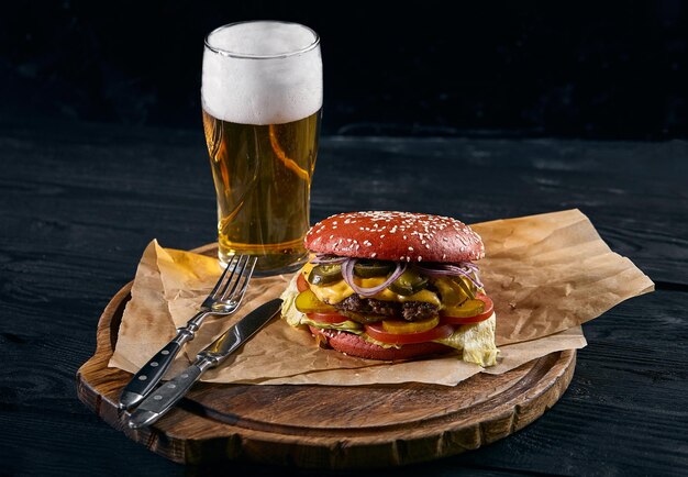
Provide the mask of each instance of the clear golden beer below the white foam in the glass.
[{"label": "clear golden beer below the white foam in the glass", "polygon": [[258,273],[303,264],[320,117],[318,111],[284,124],[237,124],[203,111],[224,263],[234,254],[256,255]]}]

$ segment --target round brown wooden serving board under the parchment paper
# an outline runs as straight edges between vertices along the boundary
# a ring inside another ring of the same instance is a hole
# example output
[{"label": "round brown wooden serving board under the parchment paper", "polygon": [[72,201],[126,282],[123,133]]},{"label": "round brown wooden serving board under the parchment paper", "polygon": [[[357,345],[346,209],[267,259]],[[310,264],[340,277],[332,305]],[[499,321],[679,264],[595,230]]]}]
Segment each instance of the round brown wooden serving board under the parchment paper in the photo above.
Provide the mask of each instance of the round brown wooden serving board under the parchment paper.
[{"label": "round brown wooden serving board under the parchment paper", "polygon": [[[212,254],[214,245],[195,252]],[[243,459],[315,468],[396,466],[475,450],[522,429],[559,399],[575,350],[455,387],[198,384],[155,425],[131,430],[116,409],[131,378],[109,368],[132,284],[98,323],[96,354],[77,373],[79,399],[110,425],[178,463]]]}]

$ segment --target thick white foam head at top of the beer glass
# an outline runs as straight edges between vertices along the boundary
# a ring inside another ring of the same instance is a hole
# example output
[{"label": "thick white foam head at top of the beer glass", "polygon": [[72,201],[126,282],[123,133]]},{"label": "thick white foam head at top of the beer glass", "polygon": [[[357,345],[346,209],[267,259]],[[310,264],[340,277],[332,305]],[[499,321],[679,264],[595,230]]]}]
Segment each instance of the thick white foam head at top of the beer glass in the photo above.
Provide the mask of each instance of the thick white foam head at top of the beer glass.
[{"label": "thick white foam head at top of the beer glass", "polygon": [[213,117],[279,124],[322,107],[320,46],[311,30],[282,22],[220,27],[206,41],[201,98]]}]

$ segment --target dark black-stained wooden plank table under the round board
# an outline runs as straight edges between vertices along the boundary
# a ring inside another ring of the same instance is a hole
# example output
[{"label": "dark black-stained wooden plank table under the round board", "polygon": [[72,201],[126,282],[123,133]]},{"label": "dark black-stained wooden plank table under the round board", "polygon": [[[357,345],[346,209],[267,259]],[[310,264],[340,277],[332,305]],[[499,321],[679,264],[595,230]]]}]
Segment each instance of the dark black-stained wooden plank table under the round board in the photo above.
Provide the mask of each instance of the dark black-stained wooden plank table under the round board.
[{"label": "dark black-stained wooden plank table under the round board", "polygon": [[[0,474],[201,475],[127,440],[76,396],[98,318],[151,239],[214,241],[198,131],[0,127]],[[397,209],[479,222],[578,208],[656,291],[584,325],[564,397],[455,457],[356,475],[688,473],[688,143],[331,136],[312,220]],[[232,475],[323,475],[233,463]],[[331,473],[347,475],[347,473]]]}]

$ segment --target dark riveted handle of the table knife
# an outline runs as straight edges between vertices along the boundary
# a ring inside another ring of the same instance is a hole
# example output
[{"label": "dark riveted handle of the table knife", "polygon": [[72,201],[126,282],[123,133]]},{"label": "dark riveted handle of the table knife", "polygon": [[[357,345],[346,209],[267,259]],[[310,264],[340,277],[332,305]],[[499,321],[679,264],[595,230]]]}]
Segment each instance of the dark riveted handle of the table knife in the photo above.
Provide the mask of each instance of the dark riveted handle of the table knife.
[{"label": "dark riveted handle of the table knife", "polygon": [[175,378],[157,388],[129,417],[129,426],[138,429],[156,422],[188,392],[203,371],[213,365],[212,358],[199,358]]}]

